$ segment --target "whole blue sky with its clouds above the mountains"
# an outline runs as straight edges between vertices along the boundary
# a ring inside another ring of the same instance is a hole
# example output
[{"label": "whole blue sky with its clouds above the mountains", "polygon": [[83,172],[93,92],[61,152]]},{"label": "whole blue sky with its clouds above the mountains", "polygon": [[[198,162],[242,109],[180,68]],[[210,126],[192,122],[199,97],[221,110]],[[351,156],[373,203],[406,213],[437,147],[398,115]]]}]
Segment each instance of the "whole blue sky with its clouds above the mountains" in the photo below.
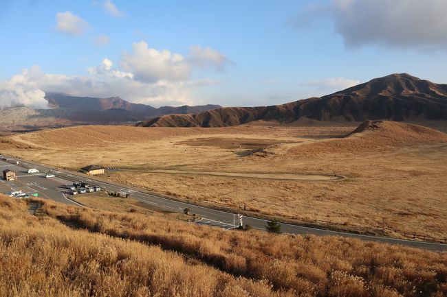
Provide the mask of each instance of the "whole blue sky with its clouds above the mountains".
[{"label": "whole blue sky with its clouds above the mountains", "polygon": [[1,0],[0,108],[45,91],[265,106],[391,73],[447,83],[445,0]]}]

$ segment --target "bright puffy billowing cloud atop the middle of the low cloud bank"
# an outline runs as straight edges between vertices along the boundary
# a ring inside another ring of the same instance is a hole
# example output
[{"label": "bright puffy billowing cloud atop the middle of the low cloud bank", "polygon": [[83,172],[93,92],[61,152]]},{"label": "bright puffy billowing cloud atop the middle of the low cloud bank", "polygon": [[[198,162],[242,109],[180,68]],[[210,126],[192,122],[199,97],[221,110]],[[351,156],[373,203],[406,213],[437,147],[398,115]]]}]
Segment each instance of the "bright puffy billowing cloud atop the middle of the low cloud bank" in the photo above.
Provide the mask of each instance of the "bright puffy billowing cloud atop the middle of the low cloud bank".
[{"label": "bright puffy billowing cloud atop the middle of the low cloud bank", "polygon": [[173,54],[167,49],[151,49],[144,41],[133,43],[131,53],[122,54],[120,66],[141,82],[186,80],[191,70],[182,55]]}]

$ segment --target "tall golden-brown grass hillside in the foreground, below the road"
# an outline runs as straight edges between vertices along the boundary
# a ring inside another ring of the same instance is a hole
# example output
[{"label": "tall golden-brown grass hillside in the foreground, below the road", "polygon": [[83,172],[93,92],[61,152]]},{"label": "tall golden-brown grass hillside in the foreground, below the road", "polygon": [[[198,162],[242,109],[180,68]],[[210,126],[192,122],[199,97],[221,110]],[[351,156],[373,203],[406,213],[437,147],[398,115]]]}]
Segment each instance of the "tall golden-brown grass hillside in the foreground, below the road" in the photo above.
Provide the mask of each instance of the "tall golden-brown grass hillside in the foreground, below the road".
[{"label": "tall golden-brown grass hillside in the foreground, below the road", "polygon": [[447,254],[0,197],[0,296],[433,296]]}]

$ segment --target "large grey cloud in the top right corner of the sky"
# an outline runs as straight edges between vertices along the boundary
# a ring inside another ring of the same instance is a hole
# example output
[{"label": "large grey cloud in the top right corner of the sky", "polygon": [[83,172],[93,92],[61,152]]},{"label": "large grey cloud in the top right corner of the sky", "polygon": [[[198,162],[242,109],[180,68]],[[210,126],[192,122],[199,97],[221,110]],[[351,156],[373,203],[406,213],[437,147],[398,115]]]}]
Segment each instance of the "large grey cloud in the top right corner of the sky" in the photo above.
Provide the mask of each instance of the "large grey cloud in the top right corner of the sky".
[{"label": "large grey cloud in the top right corner of the sky", "polygon": [[331,5],[336,31],[349,47],[446,47],[446,12],[445,0],[335,0]]}]

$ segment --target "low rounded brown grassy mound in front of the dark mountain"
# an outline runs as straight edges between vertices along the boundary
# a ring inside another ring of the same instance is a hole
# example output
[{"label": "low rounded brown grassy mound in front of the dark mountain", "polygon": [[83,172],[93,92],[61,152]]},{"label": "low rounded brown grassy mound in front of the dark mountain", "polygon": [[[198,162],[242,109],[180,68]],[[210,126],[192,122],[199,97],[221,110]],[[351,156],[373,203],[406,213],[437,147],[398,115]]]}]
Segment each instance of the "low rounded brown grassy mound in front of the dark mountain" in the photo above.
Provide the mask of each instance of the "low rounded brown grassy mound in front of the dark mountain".
[{"label": "low rounded brown grassy mound in front of the dark mountain", "polygon": [[397,147],[447,143],[447,134],[409,123],[365,121],[342,139],[325,139],[292,147],[288,154],[356,153]]}]

